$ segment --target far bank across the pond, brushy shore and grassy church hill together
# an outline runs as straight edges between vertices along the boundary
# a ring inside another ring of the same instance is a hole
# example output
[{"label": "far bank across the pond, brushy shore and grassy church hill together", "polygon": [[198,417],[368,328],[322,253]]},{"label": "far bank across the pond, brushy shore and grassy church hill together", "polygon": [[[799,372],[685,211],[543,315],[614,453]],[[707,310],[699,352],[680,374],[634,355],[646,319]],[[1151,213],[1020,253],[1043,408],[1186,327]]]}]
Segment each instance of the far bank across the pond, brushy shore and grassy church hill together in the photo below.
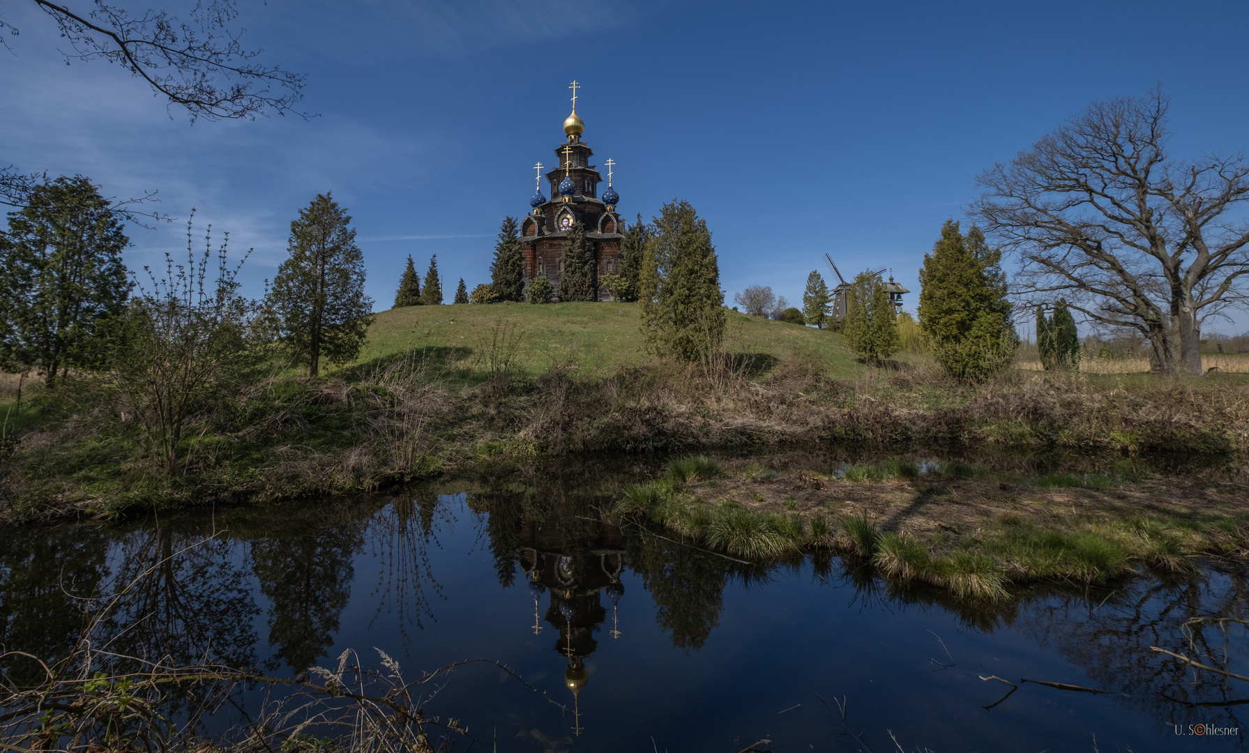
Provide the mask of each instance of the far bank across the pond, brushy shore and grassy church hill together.
[{"label": "far bank across the pond, brushy shore and grassy church hill together", "polygon": [[184,435],[175,472],[105,376],[0,385],[7,521],[370,491],[475,463],[774,446],[1243,452],[1249,380],[1035,373],[987,385],[922,357],[857,363],[826,331],[731,317],[713,363],[646,355],[627,303],[386,312],[361,360],[275,363]]}]

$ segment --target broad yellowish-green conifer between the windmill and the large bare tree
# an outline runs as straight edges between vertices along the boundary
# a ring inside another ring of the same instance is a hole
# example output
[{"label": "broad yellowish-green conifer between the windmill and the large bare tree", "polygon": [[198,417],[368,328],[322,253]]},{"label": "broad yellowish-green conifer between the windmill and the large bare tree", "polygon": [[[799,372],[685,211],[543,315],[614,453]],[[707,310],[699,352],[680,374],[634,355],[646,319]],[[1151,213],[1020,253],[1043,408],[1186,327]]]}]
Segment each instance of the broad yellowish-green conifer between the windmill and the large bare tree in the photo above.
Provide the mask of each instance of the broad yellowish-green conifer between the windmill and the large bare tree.
[{"label": "broad yellowish-green conifer between the windmill and the large bare tree", "polygon": [[947,220],[919,271],[919,327],[952,376],[983,380],[1009,366],[1018,337],[1002,252],[974,225],[964,237]]}]

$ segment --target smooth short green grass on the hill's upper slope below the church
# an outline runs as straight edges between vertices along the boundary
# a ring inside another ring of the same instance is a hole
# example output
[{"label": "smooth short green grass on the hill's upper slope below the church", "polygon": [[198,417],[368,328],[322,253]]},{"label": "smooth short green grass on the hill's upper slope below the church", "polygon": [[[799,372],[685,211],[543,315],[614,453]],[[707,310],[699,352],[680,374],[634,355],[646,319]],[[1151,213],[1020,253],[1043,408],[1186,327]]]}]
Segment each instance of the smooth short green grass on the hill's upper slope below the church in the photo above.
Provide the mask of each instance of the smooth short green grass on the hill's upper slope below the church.
[{"label": "smooth short green grass on the hill's upper slope below the church", "polygon": [[[518,338],[518,366],[531,375],[553,363],[576,363],[582,372],[608,373],[618,366],[649,360],[638,330],[637,303],[458,303],[408,306],[377,315],[357,363],[403,352],[435,350],[452,360],[471,360],[498,326]],[[796,350],[826,363],[837,377],[852,377],[861,368],[841,335],[813,327],[763,320],[731,311],[726,347],[734,353],[773,356]],[[899,353],[906,358],[908,353]]]}]

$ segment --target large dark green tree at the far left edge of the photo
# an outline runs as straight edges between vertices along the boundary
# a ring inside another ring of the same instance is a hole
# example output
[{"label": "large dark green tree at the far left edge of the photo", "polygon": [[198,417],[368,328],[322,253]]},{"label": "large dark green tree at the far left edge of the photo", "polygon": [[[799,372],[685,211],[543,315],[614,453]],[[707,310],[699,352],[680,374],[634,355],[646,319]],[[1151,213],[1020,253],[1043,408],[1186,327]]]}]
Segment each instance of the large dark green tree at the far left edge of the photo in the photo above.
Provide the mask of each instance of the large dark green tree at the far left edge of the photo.
[{"label": "large dark green tree at the far left edge of the photo", "polygon": [[101,356],[101,327],[130,291],[121,221],[91,181],[36,186],[0,234],[0,367],[34,367],[47,383]]}]

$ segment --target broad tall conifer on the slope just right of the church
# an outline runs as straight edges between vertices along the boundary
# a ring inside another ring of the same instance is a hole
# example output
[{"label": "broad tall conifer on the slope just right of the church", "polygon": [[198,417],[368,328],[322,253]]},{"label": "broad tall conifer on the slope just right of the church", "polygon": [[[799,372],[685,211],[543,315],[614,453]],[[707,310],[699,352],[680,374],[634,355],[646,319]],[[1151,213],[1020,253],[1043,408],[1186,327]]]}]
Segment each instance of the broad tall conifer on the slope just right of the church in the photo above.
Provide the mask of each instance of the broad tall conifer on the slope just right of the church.
[{"label": "broad tall conifer on the slope just right of the church", "polygon": [[707,221],[688,201],[663,205],[638,273],[642,332],[652,351],[694,361],[724,337],[724,291]]}]

